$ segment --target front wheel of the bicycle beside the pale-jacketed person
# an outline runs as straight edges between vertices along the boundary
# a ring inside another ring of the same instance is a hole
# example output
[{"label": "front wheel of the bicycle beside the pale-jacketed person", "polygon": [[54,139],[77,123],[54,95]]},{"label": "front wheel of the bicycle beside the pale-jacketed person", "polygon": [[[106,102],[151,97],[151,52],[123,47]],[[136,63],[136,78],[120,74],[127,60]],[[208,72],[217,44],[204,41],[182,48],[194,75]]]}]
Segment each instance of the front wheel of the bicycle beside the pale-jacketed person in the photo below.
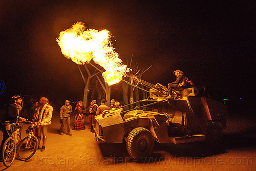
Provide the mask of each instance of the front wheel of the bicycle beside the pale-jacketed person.
[{"label": "front wheel of the bicycle beside the pale-jacketed person", "polygon": [[35,154],[37,147],[38,139],[34,135],[31,135],[31,138],[29,136],[25,137],[17,146],[18,160],[26,161],[30,159]]}]

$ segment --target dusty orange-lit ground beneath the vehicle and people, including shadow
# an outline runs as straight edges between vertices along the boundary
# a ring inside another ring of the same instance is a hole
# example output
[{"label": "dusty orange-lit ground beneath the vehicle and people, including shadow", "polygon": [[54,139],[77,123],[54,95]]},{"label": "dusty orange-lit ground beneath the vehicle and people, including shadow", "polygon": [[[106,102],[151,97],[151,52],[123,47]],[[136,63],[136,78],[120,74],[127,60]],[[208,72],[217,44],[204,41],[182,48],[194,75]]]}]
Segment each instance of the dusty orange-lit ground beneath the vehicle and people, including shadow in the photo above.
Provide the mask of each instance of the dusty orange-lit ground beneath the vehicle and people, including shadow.
[{"label": "dusty orange-lit ground beneath the vehicle and people, including shadow", "polygon": [[[72,115],[72,126],[73,120]],[[223,130],[224,151],[209,153],[200,143],[176,146],[155,143],[152,156],[143,162],[129,156],[125,143],[96,142],[87,116],[85,120],[86,130],[60,136],[59,114],[54,111],[45,152],[38,150],[26,162],[15,160],[9,168],[0,163],[0,170],[255,170],[255,117],[228,118],[228,127]]]}]

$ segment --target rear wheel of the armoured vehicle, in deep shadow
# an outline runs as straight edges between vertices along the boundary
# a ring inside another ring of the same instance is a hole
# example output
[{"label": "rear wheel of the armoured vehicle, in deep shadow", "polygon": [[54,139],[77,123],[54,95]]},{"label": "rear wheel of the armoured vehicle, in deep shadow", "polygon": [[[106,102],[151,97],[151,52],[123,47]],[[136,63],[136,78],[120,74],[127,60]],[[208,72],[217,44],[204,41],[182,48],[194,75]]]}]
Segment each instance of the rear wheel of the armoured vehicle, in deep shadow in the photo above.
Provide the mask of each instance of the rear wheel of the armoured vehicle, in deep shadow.
[{"label": "rear wheel of the armoured vehicle, in deep shadow", "polygon": [[207,127],[205,145],[210,149],[221,148],[222,146],[222,126],[219,124],[211,124]]}]

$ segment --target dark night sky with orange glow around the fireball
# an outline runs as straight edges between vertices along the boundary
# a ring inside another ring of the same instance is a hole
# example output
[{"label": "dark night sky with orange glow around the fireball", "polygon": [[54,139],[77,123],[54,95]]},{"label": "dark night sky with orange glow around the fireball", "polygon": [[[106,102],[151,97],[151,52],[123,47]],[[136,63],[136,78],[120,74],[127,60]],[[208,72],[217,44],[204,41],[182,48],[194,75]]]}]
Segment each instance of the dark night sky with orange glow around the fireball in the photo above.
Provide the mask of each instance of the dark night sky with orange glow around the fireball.
[{"label": "dark night sky with orange glow around the fireball", "polygon": [[0,1],[1,101],[13,95],[82,99],[77,65],[56,42],[76,22],[110,30],[143,80],[167,86],[182,70],[215,99],[252,99],[255,1]]}]

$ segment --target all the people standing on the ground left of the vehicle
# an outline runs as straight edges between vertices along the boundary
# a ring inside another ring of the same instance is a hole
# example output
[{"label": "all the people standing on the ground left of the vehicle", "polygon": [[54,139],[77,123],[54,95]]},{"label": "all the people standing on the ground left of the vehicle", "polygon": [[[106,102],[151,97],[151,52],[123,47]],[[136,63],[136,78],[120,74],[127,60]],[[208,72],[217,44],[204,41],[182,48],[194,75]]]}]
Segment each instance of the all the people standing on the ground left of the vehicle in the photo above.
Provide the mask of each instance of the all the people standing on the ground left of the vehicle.
[{"label": "all the people standing on the ground left of the vehicle", "polygon": [[[1,143],[1,149],[3,149],[4,142],[8,139],[9,135],[8,132],[5,129],[4,123],[5,121],[9,121],[10,124],[15,123],[17,120],[20,121],[26,121],[28,118],[22,117],[22,110],[23,110],[23,100],[24,97],[22,96],[13,96],[12,97],[12,103],[8,105],[5,116],[2,120],[2,130],[3,130],[3,140]],[[96,104],[96,100],[92,100],[90,105],[88,106],[89,110],[89,123],[90,123],[90,129],[91,132],[94,132],[93,130],[93,123],[94,123],[94,116],[102,114],[105,110],[118,110],[119,112],[122,111],[122,108],[120,108],[120,103],[118,101],[114,101],[114,99],[111,101],[111,106],[107,106],[106,99],[102,99],[100,102],[100,105],[98,106]],[[84,125],[84,119],[83,119],[83,111],[85,110],[83,106],[82,101],[78,101],[74,112],[75,112],[75,121],[73,130],[84,130],[86,129],[86,126]],[[33,114],[33,122],[38,123],[37,129],[36,129],[36,137],[38,138],[38,144],[40,144],[40,141],[42,139],[42,146],[38,145],[38,149],[40,151],[45,151],[45,145],[47,140],[47,130],[48,126],[51,124],[52,119],[52,113],[53,113],[53,107],[49,104],[49,100],[46,97],[41,97],[38,101],[38,105],[36,106]],[[61,106],[60,108],[60,130],[59,134],[63,135],[63,127],[64,124],[67,123],[67,129],[68,134],[72,135],[71,133],[71,119],[70,114],[72,113],[72,106],[70,104],[69,100],[65,101],[65,104]]]}]

